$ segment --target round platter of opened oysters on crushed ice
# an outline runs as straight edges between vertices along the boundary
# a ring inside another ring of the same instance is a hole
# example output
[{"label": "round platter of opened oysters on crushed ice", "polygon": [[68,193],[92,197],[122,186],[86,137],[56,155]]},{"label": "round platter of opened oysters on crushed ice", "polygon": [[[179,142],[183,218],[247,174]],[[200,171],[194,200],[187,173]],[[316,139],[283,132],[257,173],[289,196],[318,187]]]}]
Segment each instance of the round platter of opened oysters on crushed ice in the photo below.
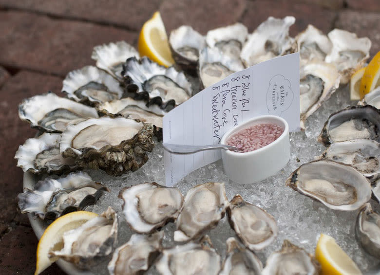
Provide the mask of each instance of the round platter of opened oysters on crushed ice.
[{"label": "round platter of opened oysters on crushed ice", "polygon": [[[125,41],[98,45],[96,65],[69,72],[61,96],[24,99],[19,117],[39,133],[15,156],[18,202],[37,237],[70,212],[99,214],[49,257],[68,274],[316,275],[326,234],[358,272],[380,270],[380,111],[350,101],[346,85],[371,41],[312,25],[290,37],[294,22],[269,17],[250,34],[241,23],[206,35],[181,26],[169,68]],[[290,133],[287,165],[240,184],[219,160],[165,187],[163,116],[230,73],[295,52],[302,131]]]}]

